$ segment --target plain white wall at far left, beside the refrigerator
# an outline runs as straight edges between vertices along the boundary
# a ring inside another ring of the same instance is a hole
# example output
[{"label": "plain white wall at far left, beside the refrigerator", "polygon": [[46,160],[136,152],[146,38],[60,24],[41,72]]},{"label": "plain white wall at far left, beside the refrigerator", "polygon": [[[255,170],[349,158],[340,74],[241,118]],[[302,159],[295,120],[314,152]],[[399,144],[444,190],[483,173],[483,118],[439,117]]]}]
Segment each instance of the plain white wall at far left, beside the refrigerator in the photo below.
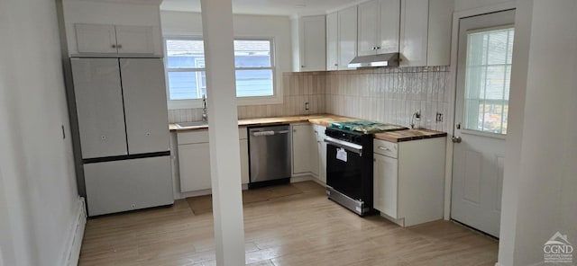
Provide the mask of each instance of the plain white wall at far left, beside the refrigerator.
[{"label": "plain white wall at far left, beside the refrigerator", "polygon": [[0,249],[5,265],[61,265],[78,191],[54,1],[0,1]]}]

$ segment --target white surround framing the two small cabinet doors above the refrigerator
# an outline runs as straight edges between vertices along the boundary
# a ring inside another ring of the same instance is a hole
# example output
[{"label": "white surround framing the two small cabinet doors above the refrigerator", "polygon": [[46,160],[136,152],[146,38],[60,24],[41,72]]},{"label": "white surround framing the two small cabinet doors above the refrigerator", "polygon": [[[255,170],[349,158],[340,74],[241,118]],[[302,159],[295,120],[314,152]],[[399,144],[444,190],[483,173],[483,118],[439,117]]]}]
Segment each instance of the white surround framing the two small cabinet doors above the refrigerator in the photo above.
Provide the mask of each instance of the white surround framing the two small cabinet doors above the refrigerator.
[{"label": "white surround framing the two small cabinet doors above the refrigerator", "polygon": [[62,3],[70,56],[78,54],[75,23],[151,26],[155,41],[154,54],[162,55],[159,4],[146,4],[145,2],[143,4],[124,4],[111,1],[81,0],[62,0]]}]

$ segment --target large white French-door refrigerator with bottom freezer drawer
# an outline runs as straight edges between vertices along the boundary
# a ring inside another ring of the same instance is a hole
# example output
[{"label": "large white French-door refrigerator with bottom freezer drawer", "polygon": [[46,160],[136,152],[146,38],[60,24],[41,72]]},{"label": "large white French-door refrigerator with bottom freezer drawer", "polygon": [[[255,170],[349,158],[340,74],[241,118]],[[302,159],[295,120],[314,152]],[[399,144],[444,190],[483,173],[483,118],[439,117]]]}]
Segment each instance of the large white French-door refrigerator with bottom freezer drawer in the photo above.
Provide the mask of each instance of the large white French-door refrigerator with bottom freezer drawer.
[{"label": "large white French-door refrigerator with bottom freezer drawer", "polygon": [[88,216],[172,204],[162,59],[70,63]]}]

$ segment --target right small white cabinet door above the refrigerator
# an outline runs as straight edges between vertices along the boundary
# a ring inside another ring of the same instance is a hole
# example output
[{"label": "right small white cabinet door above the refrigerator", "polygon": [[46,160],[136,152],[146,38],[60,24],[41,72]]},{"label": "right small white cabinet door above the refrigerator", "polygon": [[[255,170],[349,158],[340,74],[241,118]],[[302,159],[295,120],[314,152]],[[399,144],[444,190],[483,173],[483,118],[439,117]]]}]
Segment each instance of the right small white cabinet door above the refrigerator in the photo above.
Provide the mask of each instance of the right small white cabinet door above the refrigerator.
[{"label": "right small white cabinet door above the refrigerator", "polygon": [[116,25],[116,48],[119,54],[154,54],[151,26]]}]

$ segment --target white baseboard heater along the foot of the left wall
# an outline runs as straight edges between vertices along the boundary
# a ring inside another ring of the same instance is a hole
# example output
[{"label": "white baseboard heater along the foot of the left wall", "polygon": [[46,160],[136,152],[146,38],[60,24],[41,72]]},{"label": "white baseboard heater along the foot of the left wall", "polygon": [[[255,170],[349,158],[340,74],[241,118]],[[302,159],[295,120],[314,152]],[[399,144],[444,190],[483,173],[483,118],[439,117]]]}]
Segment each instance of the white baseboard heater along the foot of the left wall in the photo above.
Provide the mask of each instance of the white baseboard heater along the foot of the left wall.
[{"label": "white baseboard heater along the foot of the left wall", "polygon": [[70,227],[66,250],[60,265],[76,266],[80,259],[80,247],[84,238],[84,229],[87,225],[87,209],[84,198],[79,197],[76,209],[76,220]]}]

